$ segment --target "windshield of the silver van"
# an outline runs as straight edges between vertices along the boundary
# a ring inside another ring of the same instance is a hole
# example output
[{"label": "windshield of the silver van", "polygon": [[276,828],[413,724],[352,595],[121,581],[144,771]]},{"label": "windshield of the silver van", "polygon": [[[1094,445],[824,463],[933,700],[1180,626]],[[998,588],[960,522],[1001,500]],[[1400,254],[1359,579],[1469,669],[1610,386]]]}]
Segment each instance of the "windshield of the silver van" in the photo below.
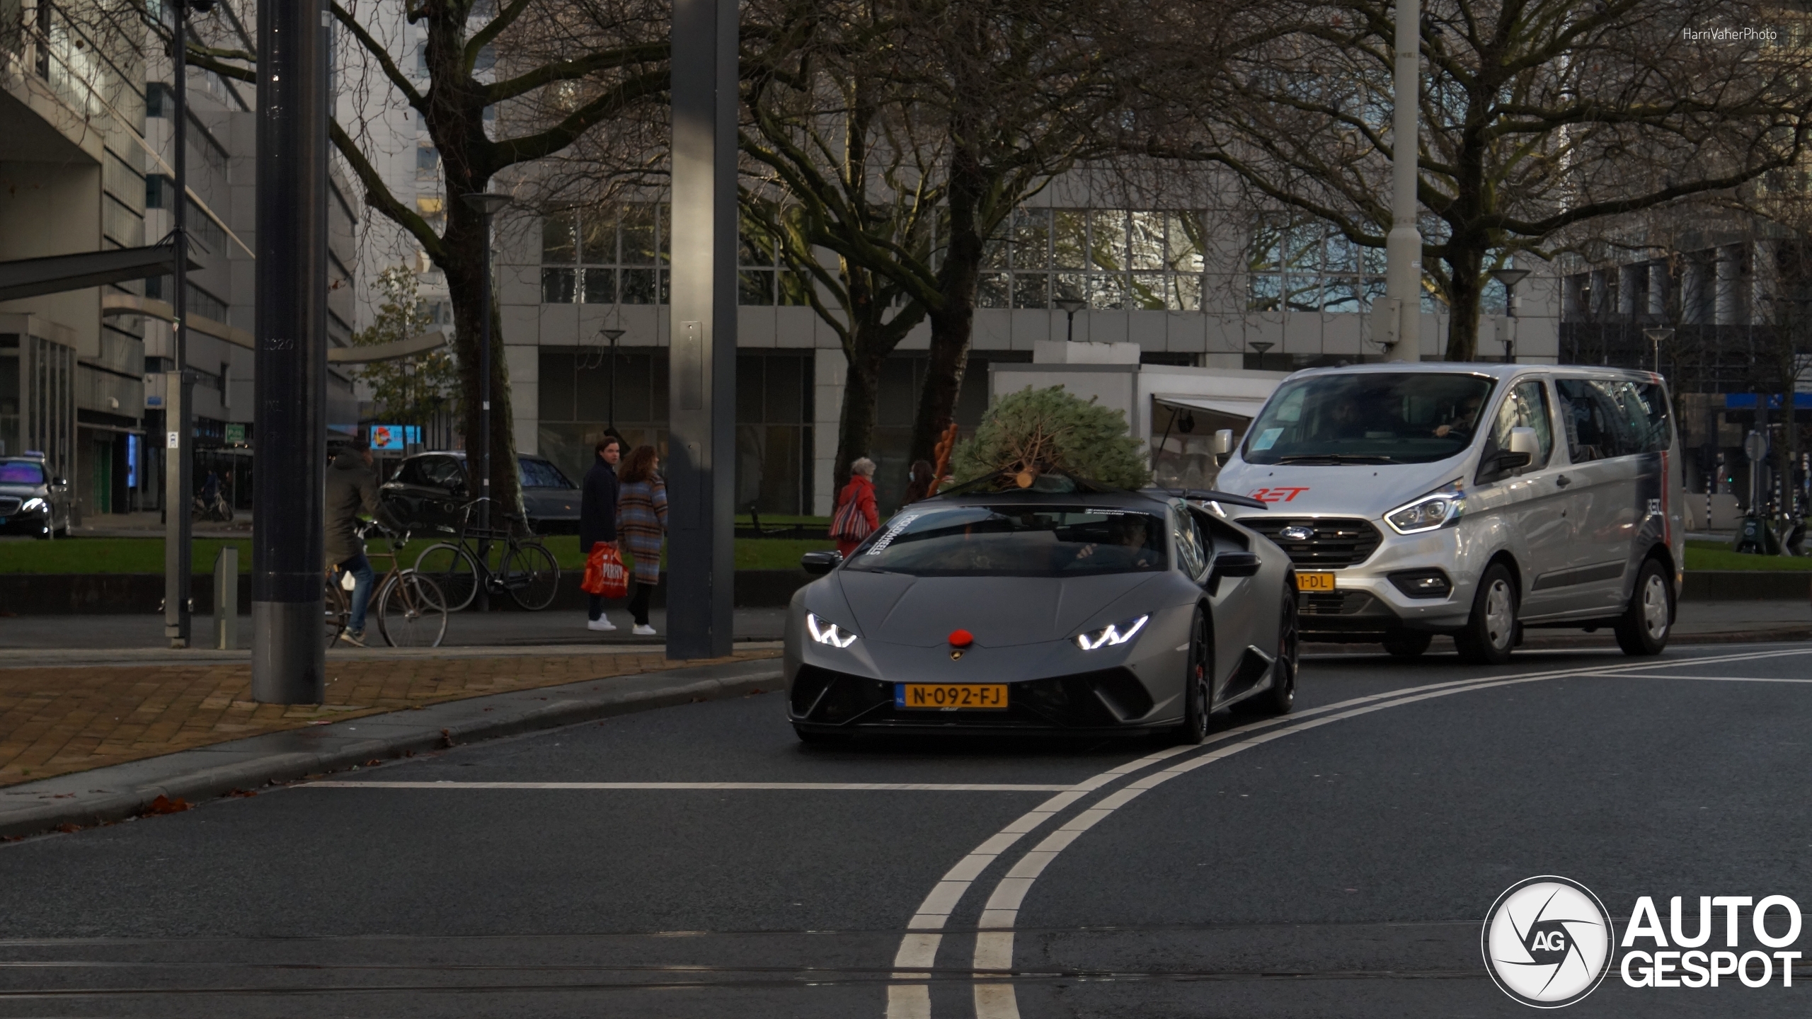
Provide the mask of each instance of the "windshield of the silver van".
[{"label": "windshield of the silver van", "polygon": [[1471,446],[1497,383],[1355,372],[1277,386],[1247,432],[1248,464],[1428,464]]}]

